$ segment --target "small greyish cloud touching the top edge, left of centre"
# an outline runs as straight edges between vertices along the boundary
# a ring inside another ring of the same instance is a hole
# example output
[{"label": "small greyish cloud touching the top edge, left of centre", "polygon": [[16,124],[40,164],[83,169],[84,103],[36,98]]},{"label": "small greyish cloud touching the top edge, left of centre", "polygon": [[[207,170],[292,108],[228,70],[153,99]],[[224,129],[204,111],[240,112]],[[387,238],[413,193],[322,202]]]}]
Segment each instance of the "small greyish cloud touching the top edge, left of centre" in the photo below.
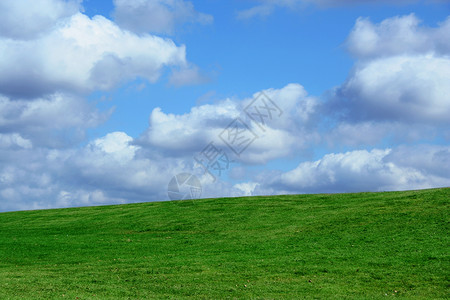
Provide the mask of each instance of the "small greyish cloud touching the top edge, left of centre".
[{"label": "small greyish cloud touching the top edge, left of centre", "polygon": [[213,17],[197,12],[184,0],[114,0],[114,18],[123,28],[137,33],[172,34],[183,23],[209,24]]}]

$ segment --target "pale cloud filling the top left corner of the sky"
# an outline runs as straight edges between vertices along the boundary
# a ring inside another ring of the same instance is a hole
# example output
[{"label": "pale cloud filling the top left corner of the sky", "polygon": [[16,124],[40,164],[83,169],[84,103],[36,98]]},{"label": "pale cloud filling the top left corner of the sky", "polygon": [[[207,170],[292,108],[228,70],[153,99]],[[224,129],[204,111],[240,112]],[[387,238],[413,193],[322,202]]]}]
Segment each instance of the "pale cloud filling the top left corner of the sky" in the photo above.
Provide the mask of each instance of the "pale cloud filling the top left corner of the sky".
[{"label": "pale cloud filling the top left corner of the sky", "polygon": [[79,0],[2,0],[0,36],[30,39],[51,30],[63,18],[80,10]]}]

